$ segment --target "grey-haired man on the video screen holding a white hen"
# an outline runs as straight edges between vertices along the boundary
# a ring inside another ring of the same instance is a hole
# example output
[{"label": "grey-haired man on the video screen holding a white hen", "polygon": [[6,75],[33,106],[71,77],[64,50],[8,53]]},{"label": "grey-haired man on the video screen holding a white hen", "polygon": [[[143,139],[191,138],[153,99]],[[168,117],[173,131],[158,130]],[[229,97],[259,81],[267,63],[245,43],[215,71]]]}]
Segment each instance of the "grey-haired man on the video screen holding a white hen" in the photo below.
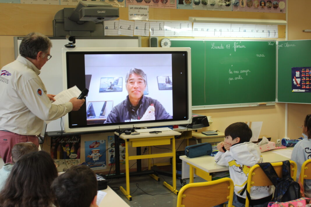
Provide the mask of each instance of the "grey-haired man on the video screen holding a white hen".
[{"label": "grey-haired man on the video screen holding a white hen", "polygon": [[132,68],[125,82],[128,96],[110,111],[104,123],[172,119],[159,101],[144,96],[147,78],[143,70]]}]

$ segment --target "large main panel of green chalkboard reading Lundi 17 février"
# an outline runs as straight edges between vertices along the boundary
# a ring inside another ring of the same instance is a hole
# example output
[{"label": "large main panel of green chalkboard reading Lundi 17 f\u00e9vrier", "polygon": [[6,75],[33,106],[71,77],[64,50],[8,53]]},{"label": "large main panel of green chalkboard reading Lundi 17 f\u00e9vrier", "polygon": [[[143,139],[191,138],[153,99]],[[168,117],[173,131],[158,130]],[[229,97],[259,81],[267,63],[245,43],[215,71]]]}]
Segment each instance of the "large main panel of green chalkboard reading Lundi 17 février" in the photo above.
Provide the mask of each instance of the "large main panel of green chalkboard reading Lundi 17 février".
[{"label": "large main panel of green chalkboard reading Lundi 17 f\u00e9vrier", "polygon": [[191,48],[193,106],[275,101],[275,41],[171,42]]}]

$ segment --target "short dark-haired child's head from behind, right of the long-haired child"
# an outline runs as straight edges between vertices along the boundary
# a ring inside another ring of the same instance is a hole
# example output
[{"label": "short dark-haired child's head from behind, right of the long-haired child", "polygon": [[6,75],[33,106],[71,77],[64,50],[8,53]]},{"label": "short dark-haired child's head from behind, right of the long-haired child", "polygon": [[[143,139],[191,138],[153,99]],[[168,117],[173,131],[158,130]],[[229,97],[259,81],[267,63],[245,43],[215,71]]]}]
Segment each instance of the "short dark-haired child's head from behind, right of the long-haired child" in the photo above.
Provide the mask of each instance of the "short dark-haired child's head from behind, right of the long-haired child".
[{"label": "short dark-haired child's head from behind, right of the long-haired child", "polygon": [[98,207],[95,173],[86,165],[72,166],[53,181],[59,207]]}]

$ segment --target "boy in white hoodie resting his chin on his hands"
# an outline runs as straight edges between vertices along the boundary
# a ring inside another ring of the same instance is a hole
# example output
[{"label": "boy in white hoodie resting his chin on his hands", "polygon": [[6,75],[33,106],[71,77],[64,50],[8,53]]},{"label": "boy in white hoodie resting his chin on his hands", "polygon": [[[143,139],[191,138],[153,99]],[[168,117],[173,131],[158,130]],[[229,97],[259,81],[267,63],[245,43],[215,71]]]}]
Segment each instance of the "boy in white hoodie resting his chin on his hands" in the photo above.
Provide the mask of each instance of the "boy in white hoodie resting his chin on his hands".
[{"label": "boy in white hoodie resting his chin on his hands", "polygon": [[[262,156],[258,145],[249,142],[252,137],[252,130],[243,122],[230,124],[225,129],[225,141],[217,145],[219,152],[215,161],[219,165],[229,166],[230,178],[234,182],[235,207],[245,206],[248,171],[250,167],[262,162]],[[251,188],[252,206],[267,206],[272,199],[272,189],[269,186],[254,186]]]}]

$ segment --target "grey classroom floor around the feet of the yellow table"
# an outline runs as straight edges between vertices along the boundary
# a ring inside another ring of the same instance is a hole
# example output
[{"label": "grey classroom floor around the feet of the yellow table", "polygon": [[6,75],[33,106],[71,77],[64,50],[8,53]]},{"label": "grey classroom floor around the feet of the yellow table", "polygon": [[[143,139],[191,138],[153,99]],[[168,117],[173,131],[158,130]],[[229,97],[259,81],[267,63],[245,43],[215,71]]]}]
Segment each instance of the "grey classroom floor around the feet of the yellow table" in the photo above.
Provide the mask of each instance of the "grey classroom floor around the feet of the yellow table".
[{"label": "grey classroom floor around the feet of the yellow table", "polygon": [[[176,207],[177,195],[169,191],[163,182],[172,184],[172,178],[168,176],[158,175],[160,181],[157,182],[149,175],[136,176],[130,178],[130,192],[132,201],[129,201],[118,189],[120,186],[126,188],[125,178],[113,179],[109,181],[109,186],[116,190],[120,197],[125,200],[131,207]],[[186,179],[189,183],[189,179]],[[195,178],[194,182],[205,182],[202,178]],[[177,190],[182,186],[180,180],[177,179]],[[148,195],[149,194],[149,195]]]}]

